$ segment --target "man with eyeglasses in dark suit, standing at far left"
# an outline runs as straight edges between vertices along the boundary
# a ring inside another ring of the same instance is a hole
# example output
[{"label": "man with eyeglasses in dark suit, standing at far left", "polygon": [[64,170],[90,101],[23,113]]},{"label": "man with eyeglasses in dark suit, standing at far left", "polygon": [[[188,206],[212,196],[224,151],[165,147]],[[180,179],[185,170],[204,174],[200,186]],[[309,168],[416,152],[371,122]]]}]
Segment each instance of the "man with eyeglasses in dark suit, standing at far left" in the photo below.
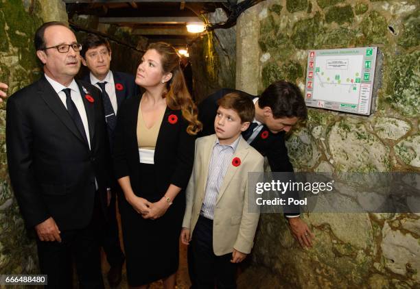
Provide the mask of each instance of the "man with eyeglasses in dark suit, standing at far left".
[{"label": "man with eyeglasses in dark suit, standing at far left", "polygon": [[44,75],[10,97],[6,145],[21,214],[36,232],[40,272],[49,288],[104,288],[98,236],[106,212],[109,146],[100,91],[73,78],[75,35],[49,22],[35,34]]}]

